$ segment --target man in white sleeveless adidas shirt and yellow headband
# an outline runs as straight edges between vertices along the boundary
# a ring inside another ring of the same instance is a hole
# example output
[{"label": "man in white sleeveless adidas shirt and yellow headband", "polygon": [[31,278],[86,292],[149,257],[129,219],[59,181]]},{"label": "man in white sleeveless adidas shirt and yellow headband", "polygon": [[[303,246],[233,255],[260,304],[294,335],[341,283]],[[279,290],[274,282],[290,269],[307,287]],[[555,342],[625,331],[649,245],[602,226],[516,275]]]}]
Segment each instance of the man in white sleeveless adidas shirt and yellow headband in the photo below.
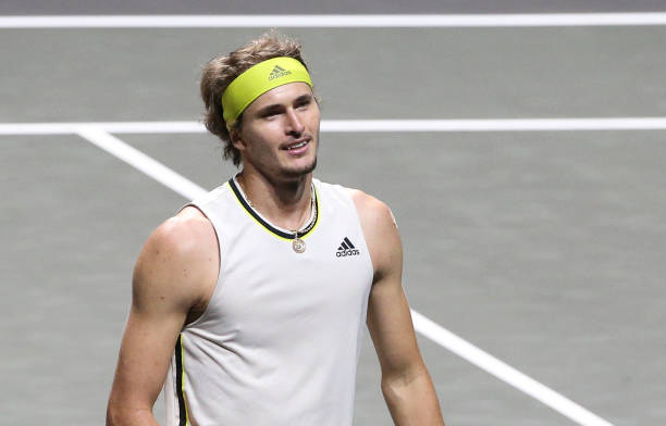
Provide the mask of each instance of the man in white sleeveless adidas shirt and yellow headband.
[{"label": "man in white sleeveless adidas shirt and yellow headband", "polygon": [[[149,237],[107,425],[350,425],[362,323],[396,425],[443,425],[403,292],[393,215],[312,178],[300,47],[266,35],[205,68],[206,125],[242,172]],[[175,351],[174,351],[175,347]]]}]

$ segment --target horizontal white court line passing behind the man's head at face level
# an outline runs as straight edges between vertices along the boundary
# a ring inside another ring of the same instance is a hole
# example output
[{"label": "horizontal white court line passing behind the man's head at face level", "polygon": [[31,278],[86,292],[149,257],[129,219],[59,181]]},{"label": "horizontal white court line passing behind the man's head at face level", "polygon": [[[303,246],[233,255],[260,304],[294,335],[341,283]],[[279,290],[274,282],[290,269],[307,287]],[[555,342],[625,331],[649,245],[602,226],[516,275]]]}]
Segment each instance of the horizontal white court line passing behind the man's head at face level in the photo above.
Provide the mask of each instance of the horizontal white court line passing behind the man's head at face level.
[{"label": "horizontal white court line passing behind the man's head at face level", "polygon": [[[0,135],[67,135],[82,126],[112,134],[206,133],[197,122],[0,123]],[[666,117],[501,120],[323,120],[322,133],[664,130]]]}]

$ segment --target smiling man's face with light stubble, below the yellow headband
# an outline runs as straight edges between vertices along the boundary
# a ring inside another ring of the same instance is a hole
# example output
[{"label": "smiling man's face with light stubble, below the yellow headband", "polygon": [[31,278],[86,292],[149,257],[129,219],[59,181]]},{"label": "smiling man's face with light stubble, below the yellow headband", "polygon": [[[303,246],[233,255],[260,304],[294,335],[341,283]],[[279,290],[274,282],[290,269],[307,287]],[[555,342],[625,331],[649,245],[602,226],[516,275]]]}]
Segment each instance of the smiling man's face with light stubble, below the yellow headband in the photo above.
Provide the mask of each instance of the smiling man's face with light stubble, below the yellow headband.
[{"label": "smiling man's face with light stubble, below the yellow headband", "polygon": [[305,83],[261,95],[243,112],[242,128],[232,136],[244,170],[281,180],[311,173],[317,165],[319,122],[319,105]]}]

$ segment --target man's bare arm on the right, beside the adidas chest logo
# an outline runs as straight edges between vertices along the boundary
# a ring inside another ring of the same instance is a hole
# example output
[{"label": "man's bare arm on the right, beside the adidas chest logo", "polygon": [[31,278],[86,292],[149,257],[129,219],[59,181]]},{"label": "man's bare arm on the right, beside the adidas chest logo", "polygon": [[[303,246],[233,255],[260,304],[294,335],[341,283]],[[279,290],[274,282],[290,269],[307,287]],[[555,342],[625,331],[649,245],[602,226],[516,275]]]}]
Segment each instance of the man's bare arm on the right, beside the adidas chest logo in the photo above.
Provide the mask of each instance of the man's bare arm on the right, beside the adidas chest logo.
[{"label": "man's bare arm on the right, beside the adidas chest logo", "polygon": [[353,198],[374,266],[368,329],[380,360],[388,411],[398,426],[443,426],[403,291],[403,248],[393,215],[384,203],[360,191],[354,191]]}]

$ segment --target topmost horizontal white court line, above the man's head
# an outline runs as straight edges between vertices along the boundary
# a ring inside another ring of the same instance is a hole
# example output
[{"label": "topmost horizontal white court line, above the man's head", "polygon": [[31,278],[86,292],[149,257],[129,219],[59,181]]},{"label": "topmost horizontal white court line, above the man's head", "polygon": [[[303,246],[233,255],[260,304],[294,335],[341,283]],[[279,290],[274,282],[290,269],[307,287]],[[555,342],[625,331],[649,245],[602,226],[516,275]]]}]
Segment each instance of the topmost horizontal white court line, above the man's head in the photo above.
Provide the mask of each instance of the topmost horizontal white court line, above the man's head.
[{"label": "topmost horizontal white court line, above the man's head", "polygon": [[665,12],[391,15],[0,16],[0,28],[343,28],[664,25]]}]

